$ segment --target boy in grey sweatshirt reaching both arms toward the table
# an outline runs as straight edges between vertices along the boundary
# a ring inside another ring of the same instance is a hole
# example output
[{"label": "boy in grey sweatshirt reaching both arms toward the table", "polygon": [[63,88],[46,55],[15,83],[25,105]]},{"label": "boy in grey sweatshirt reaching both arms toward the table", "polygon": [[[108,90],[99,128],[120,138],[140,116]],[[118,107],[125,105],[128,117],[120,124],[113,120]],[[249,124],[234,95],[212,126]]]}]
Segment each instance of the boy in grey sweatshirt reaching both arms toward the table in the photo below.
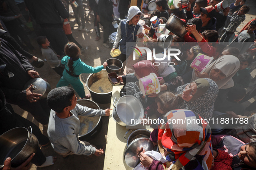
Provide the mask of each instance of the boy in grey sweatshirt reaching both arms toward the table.
[{"label": "boy in grey sweatshirt reaching both arms toward the table", "polygon": [[[55,88],[47,96],[47,104],[52,109],[47,134],[54,150],[67,157],[69,154],[104,154],[88,142],[78,139],[80,120],[78,116],[109,116],[110,109],[95,110],[77,104],[74,89],[70,87]],[[89,126],[89,125],[88,125]]]}]

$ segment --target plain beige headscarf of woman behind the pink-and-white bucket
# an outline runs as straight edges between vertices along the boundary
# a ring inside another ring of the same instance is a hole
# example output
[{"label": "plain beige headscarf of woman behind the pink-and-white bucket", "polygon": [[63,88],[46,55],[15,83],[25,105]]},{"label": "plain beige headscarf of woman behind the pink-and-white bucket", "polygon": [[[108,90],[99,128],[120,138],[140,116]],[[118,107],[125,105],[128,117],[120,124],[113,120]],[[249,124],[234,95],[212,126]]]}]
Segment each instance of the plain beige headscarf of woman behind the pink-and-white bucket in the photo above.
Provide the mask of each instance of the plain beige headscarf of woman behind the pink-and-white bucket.
[{"label": "plain beige headscarf of woman behind the pink-and-white bucket", "polygon": [[[234,86],[232,77],[236,74],[239,68],[240,61],[237,57],[233,55],[224,55],[211,63],[204,72],[206,72],[208,75],[210,75],[212,69],[219,69],[221,72],[223,72],[226,77],[217,81],[216,84],[218,85],[219,89],[226,89]],[[196,79],[199,79],[199,77],[195,75],[193,70],[192,79],[190,82],[193,82]]]}]

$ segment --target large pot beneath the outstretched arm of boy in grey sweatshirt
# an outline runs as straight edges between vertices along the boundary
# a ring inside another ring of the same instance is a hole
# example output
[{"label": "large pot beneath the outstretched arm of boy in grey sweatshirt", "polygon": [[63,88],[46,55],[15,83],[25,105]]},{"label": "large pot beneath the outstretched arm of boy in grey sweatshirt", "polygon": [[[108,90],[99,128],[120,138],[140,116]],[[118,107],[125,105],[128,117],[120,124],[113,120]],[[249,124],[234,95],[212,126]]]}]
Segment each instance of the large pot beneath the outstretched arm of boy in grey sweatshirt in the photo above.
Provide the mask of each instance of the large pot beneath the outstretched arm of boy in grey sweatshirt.
[{"label": "large pot beneath the outstretched arm of boy in grey sweatshirt", "polygon": [[[79,99],[77,100],[77,103],[91,109],[100,109],[97,103],[89,99]],[[95,135],[97,135],[98,132],[100,132],[102,126],[101,117],[78,116],[78,118],[80,120],[80,130],[78,135],[79,140],[91,140]]]}]

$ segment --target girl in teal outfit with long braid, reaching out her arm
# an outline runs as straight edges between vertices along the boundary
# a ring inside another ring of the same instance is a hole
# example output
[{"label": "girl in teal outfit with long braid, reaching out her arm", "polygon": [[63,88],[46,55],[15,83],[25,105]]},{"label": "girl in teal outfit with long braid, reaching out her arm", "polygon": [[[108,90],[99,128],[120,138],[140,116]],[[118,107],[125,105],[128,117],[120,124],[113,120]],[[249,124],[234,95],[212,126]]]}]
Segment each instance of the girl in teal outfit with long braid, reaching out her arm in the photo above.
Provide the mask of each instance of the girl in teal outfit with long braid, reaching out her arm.
[{"label": "girl in teal outfit with long braid, reaching out her arm", "polygon": [[66,56],[62,58],[62,64],[65,65],[63,76],[59,80],[56,87],[68,86],[71,84],[80,98],[91,98],[91,94],[84,92],[84,85],[79,79],[81,73],[96,73],[106,68],[107,63],[104,62],[102,66],[92,67],[86,65],[81,61],[78,54],[80,54],[80,48],[72,42],[68,42],[64,48]]}]

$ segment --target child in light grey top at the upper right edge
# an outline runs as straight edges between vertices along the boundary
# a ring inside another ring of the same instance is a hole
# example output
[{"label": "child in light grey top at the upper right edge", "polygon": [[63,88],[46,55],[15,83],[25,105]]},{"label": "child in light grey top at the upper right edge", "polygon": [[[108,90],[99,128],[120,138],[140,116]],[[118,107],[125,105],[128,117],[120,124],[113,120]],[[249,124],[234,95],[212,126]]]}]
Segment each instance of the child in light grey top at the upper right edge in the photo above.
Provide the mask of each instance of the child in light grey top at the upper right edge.
[{"label": "child in light grey top at the upper right edge", "polygon": [[[256,20],[250,23],[248,30],[240,32],[239,35],[230,43],[230,47],[237,47],[240,50],[240,54],[246,52],[255,40],[254,30],[256,30]],[[250,43],[252,42],[252,43]]]}]

